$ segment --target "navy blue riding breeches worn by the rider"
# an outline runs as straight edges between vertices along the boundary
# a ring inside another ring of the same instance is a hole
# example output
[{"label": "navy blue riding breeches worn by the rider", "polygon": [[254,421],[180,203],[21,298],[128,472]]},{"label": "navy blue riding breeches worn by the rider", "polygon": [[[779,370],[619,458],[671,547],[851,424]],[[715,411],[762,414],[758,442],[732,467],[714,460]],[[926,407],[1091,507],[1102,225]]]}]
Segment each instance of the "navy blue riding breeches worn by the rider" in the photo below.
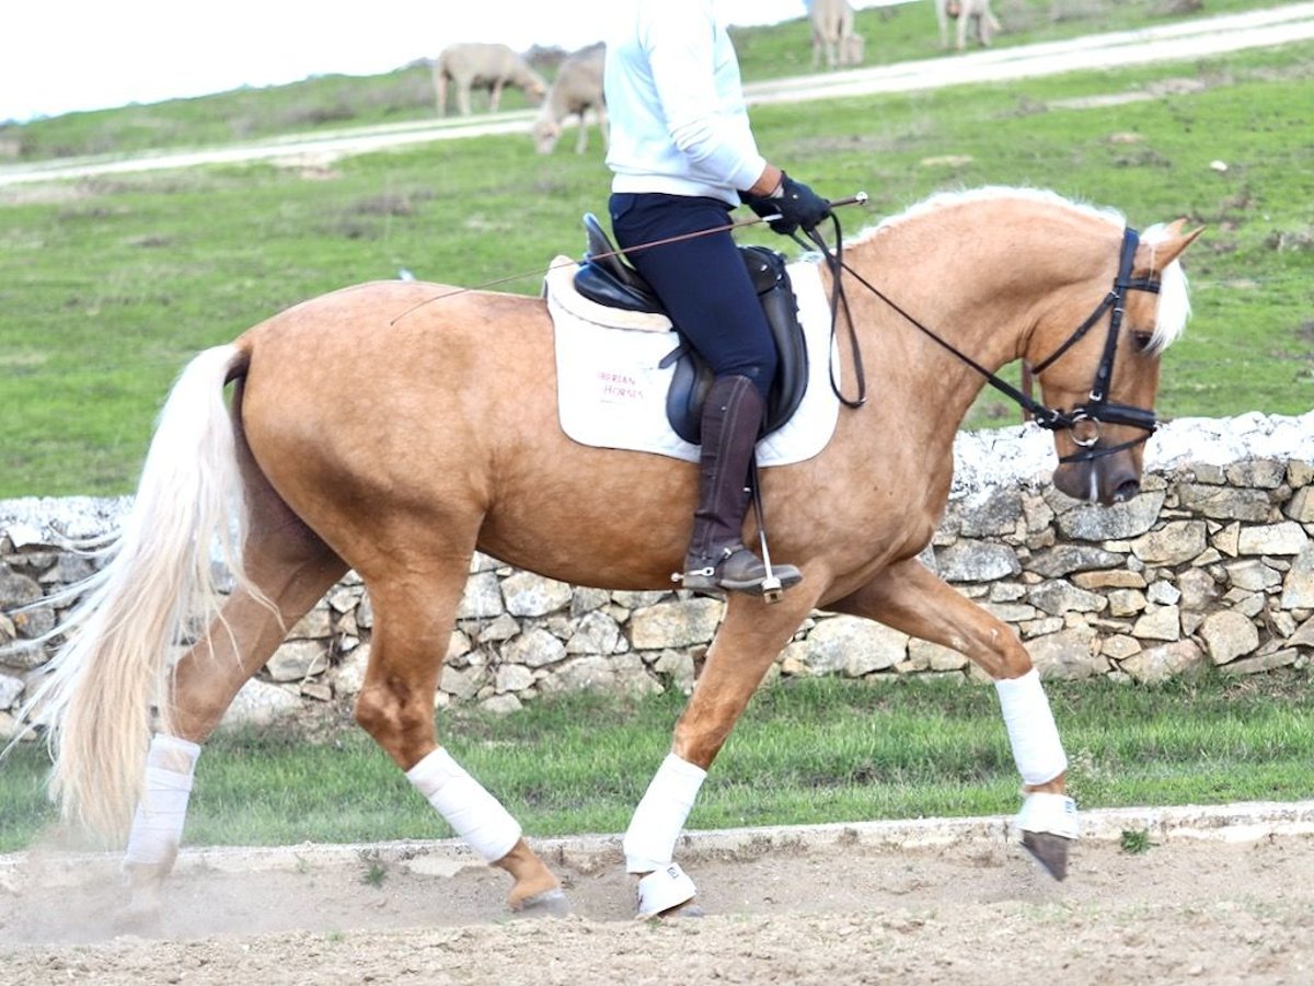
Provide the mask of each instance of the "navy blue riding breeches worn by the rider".
[{"label": "navy blue riding breeches worn by the rider", "polygon": [[729,209],[719,199],[614,193],[611,229],[622,250],[686,233],[724,227],[668,246],[627,254],[661,298],[681,334],[716,376],[746,376],[765,401],[775,377],[775,343],[738,247]]}]

